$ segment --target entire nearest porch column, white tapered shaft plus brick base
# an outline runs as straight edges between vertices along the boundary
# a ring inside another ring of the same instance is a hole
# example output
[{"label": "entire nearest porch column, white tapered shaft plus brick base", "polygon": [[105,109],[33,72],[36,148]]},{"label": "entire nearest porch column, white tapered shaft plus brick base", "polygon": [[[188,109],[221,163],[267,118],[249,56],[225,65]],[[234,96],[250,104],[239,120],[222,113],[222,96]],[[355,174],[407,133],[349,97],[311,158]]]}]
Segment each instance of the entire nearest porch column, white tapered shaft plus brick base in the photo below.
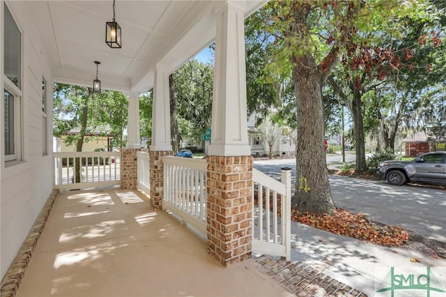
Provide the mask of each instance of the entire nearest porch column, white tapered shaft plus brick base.
[{"label": "entire nearest porch column, white tapered shaft plus brick base", "polygon": [[224,266],[252,255],[252,156],[242,1],[216,10],[212,131],[206,163],[208,252]]}]

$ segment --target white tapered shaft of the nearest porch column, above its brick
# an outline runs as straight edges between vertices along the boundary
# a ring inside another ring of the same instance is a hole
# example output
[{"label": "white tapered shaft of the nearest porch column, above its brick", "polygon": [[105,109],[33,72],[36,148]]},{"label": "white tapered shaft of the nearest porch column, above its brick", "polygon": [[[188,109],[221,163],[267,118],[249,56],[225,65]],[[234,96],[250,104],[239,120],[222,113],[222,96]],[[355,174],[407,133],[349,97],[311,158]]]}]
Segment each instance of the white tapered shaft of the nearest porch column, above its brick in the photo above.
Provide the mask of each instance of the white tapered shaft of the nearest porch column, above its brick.
[{"label": "white tapered shaft of the nearest porch column, above its brick", "polygon": [[247,133],[245,29],[242,1],[226,1],[215,13],[212,134],[208,155],[251,155]]}]

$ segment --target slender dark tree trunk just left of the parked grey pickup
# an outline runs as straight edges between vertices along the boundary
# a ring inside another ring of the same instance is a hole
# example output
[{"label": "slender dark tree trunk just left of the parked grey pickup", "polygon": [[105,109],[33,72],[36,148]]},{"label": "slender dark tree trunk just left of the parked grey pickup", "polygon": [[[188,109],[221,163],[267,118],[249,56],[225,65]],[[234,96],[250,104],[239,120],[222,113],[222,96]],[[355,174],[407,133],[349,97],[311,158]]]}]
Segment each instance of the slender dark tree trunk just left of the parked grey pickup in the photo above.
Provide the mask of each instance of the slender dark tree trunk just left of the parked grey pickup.
[{"label": "slender dark tree trunk just left of the parked grey pickup", "polygon": [[356,172],[363,172],[367,169],[365,162],[365,144],[364,144],[364,119],[362,119],[362,101],[360,91],[353,91],[352,118],[354,124],[353,135],[355,136],[356,152]]}]

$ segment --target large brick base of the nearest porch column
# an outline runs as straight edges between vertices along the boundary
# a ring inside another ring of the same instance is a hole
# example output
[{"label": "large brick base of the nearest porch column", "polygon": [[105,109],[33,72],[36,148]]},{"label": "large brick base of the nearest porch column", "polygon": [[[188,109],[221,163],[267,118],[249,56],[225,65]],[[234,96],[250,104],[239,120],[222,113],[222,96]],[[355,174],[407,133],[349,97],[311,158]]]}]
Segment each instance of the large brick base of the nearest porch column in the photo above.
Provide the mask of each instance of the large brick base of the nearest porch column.
[{"label": "large brick base of the nearest porch column", "polygon": [[224,266],[252,254],[252,156],[208,156],[208,252]]}]

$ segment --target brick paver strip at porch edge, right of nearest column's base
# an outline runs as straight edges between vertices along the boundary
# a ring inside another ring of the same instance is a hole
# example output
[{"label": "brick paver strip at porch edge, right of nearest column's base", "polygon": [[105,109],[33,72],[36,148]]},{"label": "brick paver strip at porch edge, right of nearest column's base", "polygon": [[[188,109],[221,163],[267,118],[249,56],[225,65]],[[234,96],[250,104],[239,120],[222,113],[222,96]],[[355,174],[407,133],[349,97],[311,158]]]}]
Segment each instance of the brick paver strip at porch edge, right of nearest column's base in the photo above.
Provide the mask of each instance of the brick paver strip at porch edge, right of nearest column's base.
[{"label": "brick paver strip at porch edge, right of nearest column's base", "polygon": [[261,273],[270,277],[295,296],[348,296],[367,297],[366,294],[348,287],[342,282],[300,261],[293,263],[283,259],[275,261],[266,256],[248,260]]}]

